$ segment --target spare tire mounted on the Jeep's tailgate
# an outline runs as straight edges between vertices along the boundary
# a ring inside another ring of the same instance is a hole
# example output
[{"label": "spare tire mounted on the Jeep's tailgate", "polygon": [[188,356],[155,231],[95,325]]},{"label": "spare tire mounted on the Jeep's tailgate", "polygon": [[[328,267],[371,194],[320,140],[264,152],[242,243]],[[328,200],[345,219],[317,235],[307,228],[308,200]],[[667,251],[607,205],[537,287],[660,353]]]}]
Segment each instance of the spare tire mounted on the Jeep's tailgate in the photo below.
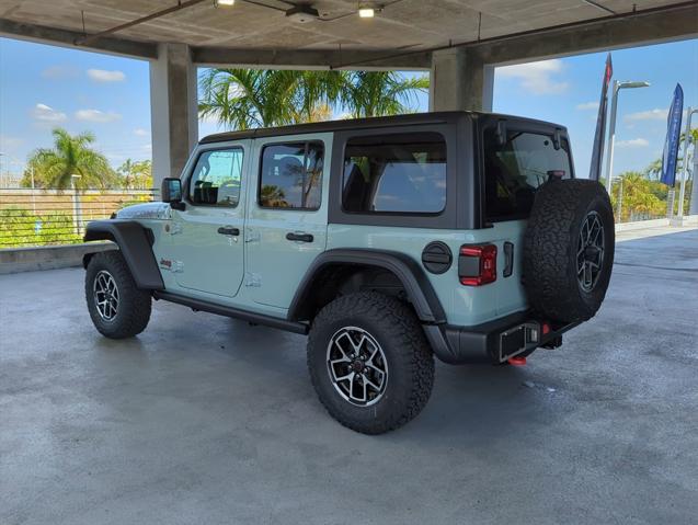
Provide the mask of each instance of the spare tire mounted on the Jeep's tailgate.
[{"label": "spare tire mounted on the Jeep's tailgate", "polygon": [[551,180],[540,186],[524,238],[524,287],[534,311],[585,321],[600,307],[615,248],[608,194],[596,181]]}]

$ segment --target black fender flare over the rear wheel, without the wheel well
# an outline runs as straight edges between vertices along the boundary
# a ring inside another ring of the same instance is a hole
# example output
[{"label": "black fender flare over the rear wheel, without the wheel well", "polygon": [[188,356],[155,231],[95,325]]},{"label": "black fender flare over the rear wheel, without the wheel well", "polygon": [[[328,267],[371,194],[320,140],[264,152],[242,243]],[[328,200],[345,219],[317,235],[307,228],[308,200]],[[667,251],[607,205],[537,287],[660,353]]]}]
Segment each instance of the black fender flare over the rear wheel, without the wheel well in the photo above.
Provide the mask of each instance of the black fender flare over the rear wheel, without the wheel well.
[{"label": "black fender flare over the rear wheel, without the wheel well", "polygon": [[313,282],[318,275],[333,265],[373,266],[392,272],[402,283],[420,321],[428,324],[446,322],[446,313],[432,283],[422,266],[412,258],[388,250],[344,248],[322,252],[312,262],[288,308],[289,321],[310,320],[307,305],[313,294]]}]

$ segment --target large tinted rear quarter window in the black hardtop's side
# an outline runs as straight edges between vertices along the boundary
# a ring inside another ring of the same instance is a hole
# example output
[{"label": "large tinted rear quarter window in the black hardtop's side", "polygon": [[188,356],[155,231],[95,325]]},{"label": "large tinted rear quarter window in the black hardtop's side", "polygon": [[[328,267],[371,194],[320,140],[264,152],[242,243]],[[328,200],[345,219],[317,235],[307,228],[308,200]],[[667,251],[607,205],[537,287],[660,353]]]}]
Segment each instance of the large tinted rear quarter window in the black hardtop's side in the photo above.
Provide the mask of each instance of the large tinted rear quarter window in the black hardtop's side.
[{"label": "large tinted rear quarter window in the black hardtop's side", "polygon": [[446,142],[437,133],[357,137],[344,150],[350,213],[437,214],[446,206]]}]

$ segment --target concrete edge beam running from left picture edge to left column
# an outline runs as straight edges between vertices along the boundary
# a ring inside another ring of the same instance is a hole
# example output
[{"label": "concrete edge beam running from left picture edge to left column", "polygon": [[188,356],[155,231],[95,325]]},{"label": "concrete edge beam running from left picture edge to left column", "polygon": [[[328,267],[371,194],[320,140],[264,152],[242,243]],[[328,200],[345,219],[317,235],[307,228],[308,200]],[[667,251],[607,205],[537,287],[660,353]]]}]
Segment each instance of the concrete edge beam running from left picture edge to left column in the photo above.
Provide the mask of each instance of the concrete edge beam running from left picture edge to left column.
[{"label": "concrete edge beam running from left picture edge to left column", "polygon": [[58,30],[45,25],[25,24],[8,19],[0,19],[0,36],[9,36],[23,41],[72,47],[78,49],[108,53],[130,58],[155,60],[158,58],[158,46],[145,42],[128,41],[113,37],[99,37],[85,45],[77,45],[84,37],[77,31]]}]

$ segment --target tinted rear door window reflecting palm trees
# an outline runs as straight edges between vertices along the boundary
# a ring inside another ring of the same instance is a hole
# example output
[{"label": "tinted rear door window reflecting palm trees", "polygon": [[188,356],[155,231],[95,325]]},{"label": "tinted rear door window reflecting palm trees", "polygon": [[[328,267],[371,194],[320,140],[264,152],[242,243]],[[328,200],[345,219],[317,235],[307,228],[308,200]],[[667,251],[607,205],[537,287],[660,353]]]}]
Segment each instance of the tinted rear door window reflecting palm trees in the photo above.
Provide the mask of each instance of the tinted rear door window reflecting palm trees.
[{"label": "tinted rear door window reflecting palm trees", "polygon": [[322,194],[321,142],[266,146],[262,151],[260,206],[318,209]]}]

